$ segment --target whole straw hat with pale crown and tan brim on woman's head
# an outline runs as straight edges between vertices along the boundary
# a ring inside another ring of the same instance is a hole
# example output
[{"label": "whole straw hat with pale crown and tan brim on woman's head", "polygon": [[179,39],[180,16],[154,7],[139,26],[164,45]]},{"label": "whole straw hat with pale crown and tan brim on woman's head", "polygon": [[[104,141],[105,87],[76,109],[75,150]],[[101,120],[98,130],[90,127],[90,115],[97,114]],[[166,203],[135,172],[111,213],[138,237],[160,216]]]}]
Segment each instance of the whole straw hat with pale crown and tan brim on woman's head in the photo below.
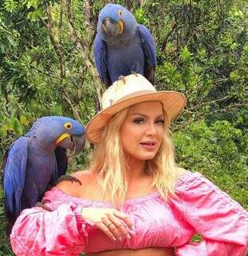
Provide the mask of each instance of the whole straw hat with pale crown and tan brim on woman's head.
[{"label": "whole straw hat with pale crown and tan brim on woman's head", "polygon": [[141,74],[130,74],[120,77],[103,94],[103,110],[98,112],[86,126],[86,137],[90,142],[97,143],[100,132],[108,120],[120,110],[140,102],[161,102],[169,120],[173,120],[186,105],[183,94],[169,90],[156,91],[151,82]]}]

